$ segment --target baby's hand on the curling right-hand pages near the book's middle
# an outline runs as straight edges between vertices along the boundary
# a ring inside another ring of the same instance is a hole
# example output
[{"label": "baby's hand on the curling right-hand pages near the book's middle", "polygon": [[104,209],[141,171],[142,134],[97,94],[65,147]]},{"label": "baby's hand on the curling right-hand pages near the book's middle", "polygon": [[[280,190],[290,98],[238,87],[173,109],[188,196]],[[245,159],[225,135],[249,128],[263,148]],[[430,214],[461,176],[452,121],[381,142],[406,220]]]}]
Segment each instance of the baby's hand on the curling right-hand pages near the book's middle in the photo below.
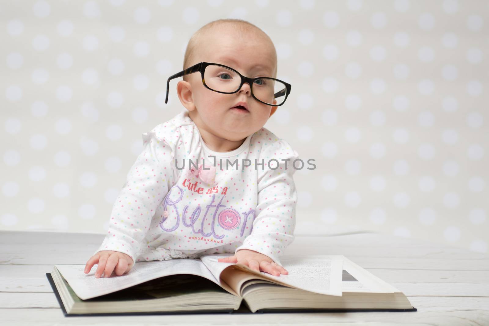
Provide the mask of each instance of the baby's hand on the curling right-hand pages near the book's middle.
[{"label": "baby's hand on the curling right-hand pages near the book's middle", "polygon": [[260,272],[260,270],[262,270],[274,276],[280,276],[281,273],[284,275],[289,274],[289,272],[284,267],[277,264],[270,257],[248,249],[238,250],[238,252],[236,252],[234,256],[220,258],[217,261],[243,264],[251,269],[256,270],[257,272]]}]

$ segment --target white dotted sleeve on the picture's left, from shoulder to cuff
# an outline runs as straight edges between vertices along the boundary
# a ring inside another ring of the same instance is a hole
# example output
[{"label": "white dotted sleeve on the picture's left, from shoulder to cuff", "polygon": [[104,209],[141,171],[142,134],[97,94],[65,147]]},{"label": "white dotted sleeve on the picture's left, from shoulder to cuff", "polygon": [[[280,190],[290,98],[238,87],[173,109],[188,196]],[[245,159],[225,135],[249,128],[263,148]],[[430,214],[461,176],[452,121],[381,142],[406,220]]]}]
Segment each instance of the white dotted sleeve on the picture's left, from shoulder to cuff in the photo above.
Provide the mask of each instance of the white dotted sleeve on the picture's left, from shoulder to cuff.
[{"label": "white dotted sleeve on the picture's left, from shoulder to cuff", "polygon": [[[142,134],[143,149],[127,174],[127,180],[112,207],[109,230],[102,250],[118,251],[133,261],[150,227],[157,205],[166,196],[176,178],[174,151],[154,131]],[[94,254],[95,254],[94,253]]]}]

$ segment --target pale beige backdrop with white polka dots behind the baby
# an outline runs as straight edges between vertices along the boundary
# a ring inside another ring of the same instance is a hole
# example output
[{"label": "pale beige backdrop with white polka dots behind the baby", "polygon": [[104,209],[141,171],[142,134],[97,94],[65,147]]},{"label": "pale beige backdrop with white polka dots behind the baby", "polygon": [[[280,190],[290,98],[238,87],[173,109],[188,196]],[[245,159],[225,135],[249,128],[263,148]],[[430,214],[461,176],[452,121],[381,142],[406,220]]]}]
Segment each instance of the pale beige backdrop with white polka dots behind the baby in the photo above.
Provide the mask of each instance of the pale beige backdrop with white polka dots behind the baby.
[{"label": "pale beige backdrop with white polka dots behind the baby", "polygon": [[0,227],[105,233],[141,133],[182,109],[176,81],[164,104],[166,79],[219,18],[267,32],[292,84],[266,127],[315,160],[295,174],[296,234],[488,251],[489,4],[476,0],[2,1]]}]

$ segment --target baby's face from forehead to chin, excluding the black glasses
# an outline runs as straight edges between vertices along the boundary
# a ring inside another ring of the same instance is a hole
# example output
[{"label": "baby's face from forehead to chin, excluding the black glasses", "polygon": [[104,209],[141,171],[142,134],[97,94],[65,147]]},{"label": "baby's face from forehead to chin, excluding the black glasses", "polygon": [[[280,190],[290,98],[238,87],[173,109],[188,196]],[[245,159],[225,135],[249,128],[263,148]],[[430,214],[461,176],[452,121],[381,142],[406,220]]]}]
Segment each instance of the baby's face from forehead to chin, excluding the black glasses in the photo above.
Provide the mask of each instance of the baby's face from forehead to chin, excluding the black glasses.
[{"label": "baby's face from forehead to chin, excluding the black glasses", "polygon": [[[276,76],[273,44],[264,36],[250,33],[241,36],[238,32],[219,33],[216,30],[203,37],[203,42],[196,49],[195,61],[190,65],[210,62],[227,65],[250,78]],[[200,73],[190,74],[188,81],[195,106],[195,112],[191,112],[192,119],[199,128],[220,138],[230,141],[245,138],[260,130],[276,109],[255,100],[247,83],[237,93],[222,94],[204,87]],[[244,102],[248,110],[231,109],[239,102]]]}]

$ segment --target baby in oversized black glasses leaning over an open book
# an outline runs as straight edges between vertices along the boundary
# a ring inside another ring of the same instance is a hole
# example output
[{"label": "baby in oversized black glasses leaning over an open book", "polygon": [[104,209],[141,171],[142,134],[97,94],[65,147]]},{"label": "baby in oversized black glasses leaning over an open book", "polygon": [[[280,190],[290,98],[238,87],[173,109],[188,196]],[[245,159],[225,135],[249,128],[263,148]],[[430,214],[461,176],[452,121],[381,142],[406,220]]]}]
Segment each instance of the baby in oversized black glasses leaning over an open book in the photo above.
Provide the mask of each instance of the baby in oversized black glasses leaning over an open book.
[{"label": "baby in oversized black glasses leaning over an open book", "polygon": [[[270,38],[242,20],[218,20],[190,39],[177,84],[185,107],[142,134],[143,150],[85,266],[121,276],[136,261],[233,253],[220,262],[288,274],[297,152],[263,126],[290,93],[276,79]],[[269,77],[269,78],[258,78]],[[188,165],[187,165],[188,164]],[[185,167],[186,166],[186,167]]]}]

